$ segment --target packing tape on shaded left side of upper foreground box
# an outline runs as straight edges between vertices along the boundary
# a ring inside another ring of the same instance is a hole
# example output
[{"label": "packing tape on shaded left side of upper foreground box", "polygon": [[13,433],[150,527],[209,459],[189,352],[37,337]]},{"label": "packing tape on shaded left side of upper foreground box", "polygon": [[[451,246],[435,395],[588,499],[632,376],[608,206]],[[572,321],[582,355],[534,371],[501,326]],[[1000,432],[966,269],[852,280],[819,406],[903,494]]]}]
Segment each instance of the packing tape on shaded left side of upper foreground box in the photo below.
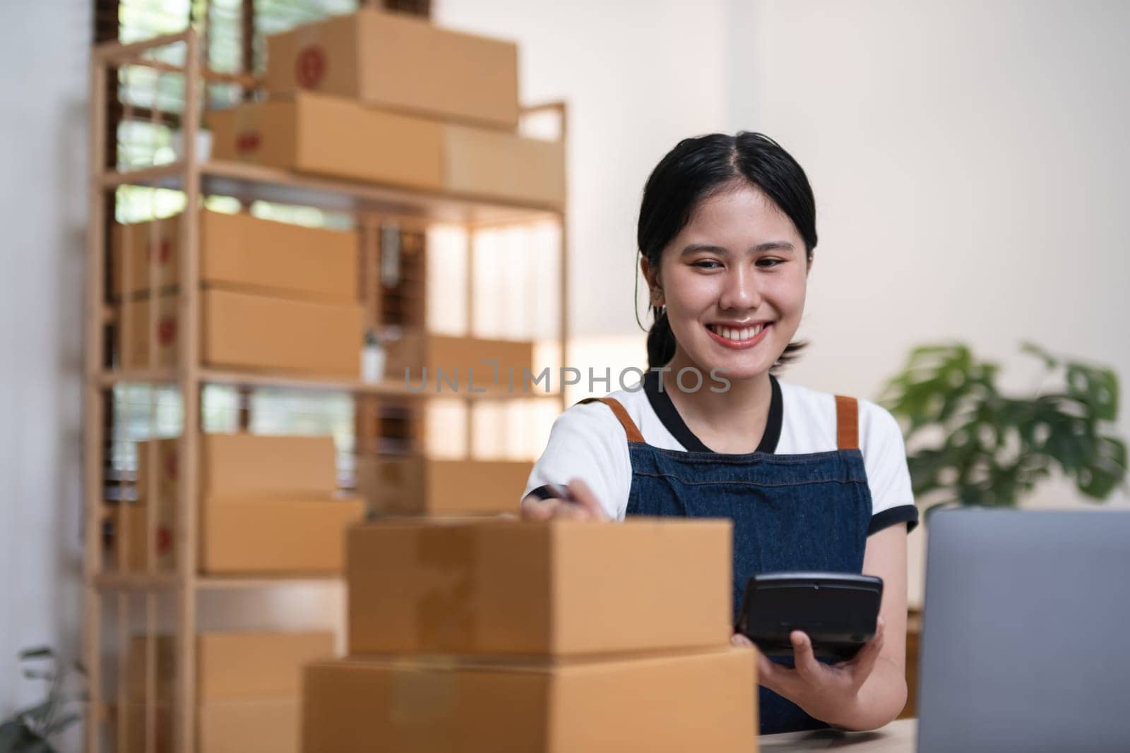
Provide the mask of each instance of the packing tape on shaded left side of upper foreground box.
[{"label": "packing tape on shaded left side of upper foreground box", "polygon": [[421,645],[435,650],[478,646],[476,527],[436,526],[419,532],[416,567],[428,586],[416,602],[416,632]]}]

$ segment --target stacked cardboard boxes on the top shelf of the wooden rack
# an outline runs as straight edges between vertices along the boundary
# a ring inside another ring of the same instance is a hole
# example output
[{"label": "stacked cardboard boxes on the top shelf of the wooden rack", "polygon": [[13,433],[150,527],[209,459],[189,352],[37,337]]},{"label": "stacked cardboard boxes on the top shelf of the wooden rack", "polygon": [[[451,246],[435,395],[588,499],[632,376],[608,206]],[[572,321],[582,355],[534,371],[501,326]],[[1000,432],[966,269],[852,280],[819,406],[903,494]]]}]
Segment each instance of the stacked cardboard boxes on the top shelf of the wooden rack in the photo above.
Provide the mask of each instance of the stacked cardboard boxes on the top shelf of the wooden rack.
[{"label": "stacked cardboard boxes on the top shelf of the wooden rack", "polygon": [[518,49],[375,9],[268,38],[266,102],[210,113],[214,156],[560,205],[559,141],[519,135]]}]

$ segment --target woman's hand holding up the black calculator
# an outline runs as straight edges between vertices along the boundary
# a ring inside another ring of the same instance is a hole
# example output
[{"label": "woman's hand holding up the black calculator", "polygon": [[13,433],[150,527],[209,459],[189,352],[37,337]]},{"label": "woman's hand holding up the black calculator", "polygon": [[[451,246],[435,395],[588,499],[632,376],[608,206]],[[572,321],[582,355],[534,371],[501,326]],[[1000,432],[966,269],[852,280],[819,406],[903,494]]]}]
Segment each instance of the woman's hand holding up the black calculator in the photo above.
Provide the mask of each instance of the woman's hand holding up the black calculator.
[{"label": "woman's hand holding up the black calculator", "polygon": [[[880,616],[875,637],[860,647],[855,656],[827,665],[816,659],[808,634],[793,630],[789,638],[792,640],[794,668],[774,664],[760,649],[756,649],[757,680],[802,708],[810,717],[835,727],[854,728],[855,725],[849,720],[859,716],[860,689],[883,651],[883,632]],[[734,646],[754,646],[741,633],[734,633],[731,642]]]}]

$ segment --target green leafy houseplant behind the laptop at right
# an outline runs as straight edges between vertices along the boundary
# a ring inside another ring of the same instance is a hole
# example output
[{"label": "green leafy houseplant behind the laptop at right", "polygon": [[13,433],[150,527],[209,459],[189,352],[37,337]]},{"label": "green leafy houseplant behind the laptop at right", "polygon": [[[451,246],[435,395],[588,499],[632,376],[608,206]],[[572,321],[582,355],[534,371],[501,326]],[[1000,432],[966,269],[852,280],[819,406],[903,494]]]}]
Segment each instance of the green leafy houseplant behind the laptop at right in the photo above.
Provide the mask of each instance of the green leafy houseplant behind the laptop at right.
[{"label": "green leafy houseplant behind the laptop at right", "polygon": [[1011,507],[1055,469],[1087,498],[1123,483],[1127,445],[1110,432],[1118,417],[1114,371],[1052,356],[1031,343],[1044,383],[1059,388],[1005,395],[999,367],[968,347],[923,345],[885,386],[879,402],[903,426],[914,498],[942,505]]}]

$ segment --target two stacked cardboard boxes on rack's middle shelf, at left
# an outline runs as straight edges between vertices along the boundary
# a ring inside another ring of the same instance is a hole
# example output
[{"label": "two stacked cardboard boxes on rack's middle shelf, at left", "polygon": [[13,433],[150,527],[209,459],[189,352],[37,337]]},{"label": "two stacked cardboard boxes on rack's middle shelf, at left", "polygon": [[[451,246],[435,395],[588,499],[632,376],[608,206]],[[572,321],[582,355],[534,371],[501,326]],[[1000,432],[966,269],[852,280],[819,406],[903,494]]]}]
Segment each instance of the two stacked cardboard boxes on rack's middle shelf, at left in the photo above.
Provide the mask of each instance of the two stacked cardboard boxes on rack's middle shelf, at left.
[{"label": "two stacked cardboard boxes on rack's middle shelf, at left", "polygon": [[[112,291],[124,368],[176,364],[184,331],[180,225],[177,216],[114,227]],[[357,377],[363,312],[355,233],[201,211],[199,234],[201,364]]]}]

